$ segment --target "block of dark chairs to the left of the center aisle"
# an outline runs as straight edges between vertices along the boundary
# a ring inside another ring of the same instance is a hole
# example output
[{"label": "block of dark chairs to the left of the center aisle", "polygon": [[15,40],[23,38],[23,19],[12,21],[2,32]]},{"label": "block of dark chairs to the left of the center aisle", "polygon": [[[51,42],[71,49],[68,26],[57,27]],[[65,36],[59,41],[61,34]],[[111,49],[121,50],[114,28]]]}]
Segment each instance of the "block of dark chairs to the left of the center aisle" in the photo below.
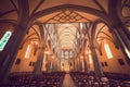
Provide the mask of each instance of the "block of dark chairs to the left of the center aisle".
[{"label": "block of dark chairs to the left of the center aisle", "polygon": [[62,87],[64,72],[42,73],[17,73],[9,76],[8,84],[0,87]]}]

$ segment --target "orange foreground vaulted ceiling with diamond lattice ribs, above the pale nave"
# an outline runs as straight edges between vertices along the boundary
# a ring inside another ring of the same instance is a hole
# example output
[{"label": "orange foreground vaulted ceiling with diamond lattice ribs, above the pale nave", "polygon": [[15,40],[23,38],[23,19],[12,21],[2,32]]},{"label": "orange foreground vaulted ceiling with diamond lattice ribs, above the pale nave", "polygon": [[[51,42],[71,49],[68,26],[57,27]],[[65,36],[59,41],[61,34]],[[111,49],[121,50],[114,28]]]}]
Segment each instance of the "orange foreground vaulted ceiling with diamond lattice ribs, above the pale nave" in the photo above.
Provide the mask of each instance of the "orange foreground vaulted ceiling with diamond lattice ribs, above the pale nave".
[{"label": "orange foreground vaulted ceiling with diamond lattice ribs, above the pale nave", "polygon": [[[62,18],[69,16],[73,18],[76,15],[78,18],[83,18],[80,20],[81,22],[94,21],[101,15],[96,13],[108,13],[109,4],[110,0],[1,0],[0,20],[20,20],[22,16],[21,12],[27,11],[29,18],[38,15],[37,20],[42,23],[64,22],[60,21],[56,16]],[[122,15],[129,16],[130,1],[121,0],[121,5]]]}]

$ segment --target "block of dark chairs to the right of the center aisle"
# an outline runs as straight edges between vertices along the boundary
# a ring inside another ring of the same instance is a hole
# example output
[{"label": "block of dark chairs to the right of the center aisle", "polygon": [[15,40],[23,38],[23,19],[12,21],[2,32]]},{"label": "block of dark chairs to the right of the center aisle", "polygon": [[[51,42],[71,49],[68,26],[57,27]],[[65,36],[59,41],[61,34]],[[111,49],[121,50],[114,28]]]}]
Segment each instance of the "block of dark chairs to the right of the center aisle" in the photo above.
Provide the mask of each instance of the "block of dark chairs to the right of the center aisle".
[{"label": "block of dark chairs to the right of the center aisle", "polygon": [[[117,74],[108,73],[102,77],[95,76],[95,74],[92,72],[70,72],[69,74],[77,87],[130,87],[129,76],[127,78],[122,78],[120,76],[121,79],[119,79]],[[115,79],[116,76],[118,79]]]}]

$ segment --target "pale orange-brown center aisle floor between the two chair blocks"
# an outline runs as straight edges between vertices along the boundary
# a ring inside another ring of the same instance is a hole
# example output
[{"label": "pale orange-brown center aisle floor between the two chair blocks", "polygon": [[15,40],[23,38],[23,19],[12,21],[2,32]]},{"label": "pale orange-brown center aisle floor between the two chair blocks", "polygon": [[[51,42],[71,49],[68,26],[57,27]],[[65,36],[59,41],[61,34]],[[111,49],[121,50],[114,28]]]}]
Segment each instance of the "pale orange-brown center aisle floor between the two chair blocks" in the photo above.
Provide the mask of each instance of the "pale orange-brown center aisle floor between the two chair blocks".
[{"label": "pale orange-brown center aisle floor between the two chair blocks", "polygon": [[76,85],[74,84],[74,80],[72,79],[68,73],[65,74],[65,78],[63,80],[62,87],[76,87]]}]

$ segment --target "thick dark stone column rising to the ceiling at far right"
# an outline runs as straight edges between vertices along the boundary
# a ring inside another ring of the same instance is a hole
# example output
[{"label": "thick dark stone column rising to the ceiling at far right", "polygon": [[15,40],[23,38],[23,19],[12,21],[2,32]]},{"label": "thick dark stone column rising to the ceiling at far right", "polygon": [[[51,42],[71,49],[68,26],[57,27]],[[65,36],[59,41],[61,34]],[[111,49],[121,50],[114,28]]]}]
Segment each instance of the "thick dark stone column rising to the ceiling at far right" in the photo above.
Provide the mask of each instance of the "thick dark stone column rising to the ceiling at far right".
[{"label": "thick dark stone column rising to the ceiling at far right", "polygon": [[[126,58],[130,58],[130,33],[126,28],[125,20],[120,16],[120,7],[121,0],[109,0],[112,4],[109,4],[109,26],[112,28],[110,32],[115,35],[117,41],[119,41],[119,46],[121,47],[122,52]],[[115,8],[116,7],[116,8]],[[130,60],[128,60],[130,64]]]}]

